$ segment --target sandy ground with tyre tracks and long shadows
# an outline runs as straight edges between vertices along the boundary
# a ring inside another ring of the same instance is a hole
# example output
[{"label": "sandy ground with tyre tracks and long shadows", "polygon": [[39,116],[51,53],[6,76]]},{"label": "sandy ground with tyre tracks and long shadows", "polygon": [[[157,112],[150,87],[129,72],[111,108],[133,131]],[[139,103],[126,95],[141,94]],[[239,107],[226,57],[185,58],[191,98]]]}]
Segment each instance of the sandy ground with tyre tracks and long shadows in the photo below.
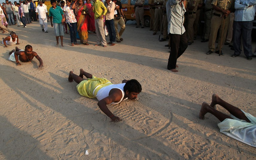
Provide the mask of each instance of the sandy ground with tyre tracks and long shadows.
[{"label": "sandy ground with tyre tracks and long shadows", "polygon": [[[0,46],[0,159],[256,158],[256,148],[220,133],[213,115],[199,119],[202,102],[211,102],[214,93],[256,115],[256,58],[248,61],[243,53],[232,58],[227,46],[225,56],[206,55],[208,44],[198,37],[178,59],[179,72],[172,73],[167,42],[134,22],[126,26],[122,43],[106,48],[93,45],[95,34],[89,34],[89,46],[71,47],[65,35],[64,47],[55,47],[49,24],[48,34],[38,22],[10,26],[19,36],[18,46],[30,44],[42,58],[42,69],[35,58],[16,66],[8,61],[14,46]],[[141,83],[137,101],[109,106],[122,122],[111,122],[96,99],[80,96],[76,83],[68,82],[68,72],[79,74],[80,68],[113,83]]]}]

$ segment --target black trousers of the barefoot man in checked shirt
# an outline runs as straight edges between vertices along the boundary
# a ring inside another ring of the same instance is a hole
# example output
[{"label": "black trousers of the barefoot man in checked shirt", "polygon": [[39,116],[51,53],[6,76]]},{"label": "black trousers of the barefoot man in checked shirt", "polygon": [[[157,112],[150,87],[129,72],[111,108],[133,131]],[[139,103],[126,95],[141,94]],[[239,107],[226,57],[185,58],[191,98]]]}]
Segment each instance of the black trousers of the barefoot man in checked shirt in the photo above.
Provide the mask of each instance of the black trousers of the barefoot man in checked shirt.
[{"label": "black trousers of the barefoot man in checked shirt", "polygon": [[168,59],[167,69],[175,69],[177,59],[185,52],[188,47],[186,32],[180,34],[169,34],[171,38],[171,53]]}]

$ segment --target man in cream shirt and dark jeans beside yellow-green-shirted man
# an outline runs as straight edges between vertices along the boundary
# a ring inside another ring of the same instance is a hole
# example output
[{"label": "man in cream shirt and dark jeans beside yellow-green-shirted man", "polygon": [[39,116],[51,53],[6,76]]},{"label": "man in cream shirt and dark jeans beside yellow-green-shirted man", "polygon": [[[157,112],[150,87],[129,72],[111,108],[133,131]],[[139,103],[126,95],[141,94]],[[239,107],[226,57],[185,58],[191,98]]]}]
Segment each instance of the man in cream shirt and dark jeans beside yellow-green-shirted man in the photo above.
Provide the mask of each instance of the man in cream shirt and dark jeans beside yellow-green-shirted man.
[{"label": "man in cream shirt and dark jeans beside yellow-green-shirted man", "polygon": [[110,35],[110,42],[108,42],[107,44],[110,44],[110,46],[114,46],[116,41],[116,31],[114,24],[115,3],[111,0],[106,0],[106,7],[108,11],[106,13],[105,24],[108,28],[108,32]]}]

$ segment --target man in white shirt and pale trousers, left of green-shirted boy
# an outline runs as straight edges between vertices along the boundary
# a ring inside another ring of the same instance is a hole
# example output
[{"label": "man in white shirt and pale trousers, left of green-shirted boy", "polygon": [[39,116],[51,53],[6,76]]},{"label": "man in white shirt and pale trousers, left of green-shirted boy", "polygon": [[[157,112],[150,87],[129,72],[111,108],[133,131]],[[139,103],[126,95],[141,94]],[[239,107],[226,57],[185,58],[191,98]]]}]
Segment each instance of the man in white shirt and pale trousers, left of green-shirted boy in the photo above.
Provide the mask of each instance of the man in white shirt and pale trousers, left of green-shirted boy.
[{"label": "man in white shirt and pale trousers, left of green-shirted boy", "polygon": [[38,15],[39,23],[41,25],[42,31],[48,33],[47,31],[47,17],[48,11],[47,8],[42,5],[42,1],[39,1],[39,5],[36,8],[36,13]]}]

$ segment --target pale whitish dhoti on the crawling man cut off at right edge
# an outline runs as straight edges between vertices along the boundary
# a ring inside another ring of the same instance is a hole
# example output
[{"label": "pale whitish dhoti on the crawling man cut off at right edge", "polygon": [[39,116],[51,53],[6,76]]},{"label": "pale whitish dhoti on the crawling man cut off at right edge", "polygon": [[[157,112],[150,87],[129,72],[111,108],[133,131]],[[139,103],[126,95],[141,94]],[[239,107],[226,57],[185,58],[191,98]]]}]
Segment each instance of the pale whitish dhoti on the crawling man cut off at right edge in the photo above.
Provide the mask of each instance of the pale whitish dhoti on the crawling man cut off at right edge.
[{"label": "pale whitish dhoti on the crawling man cut off at right edge", "polygon": [[234,119],[227,118],[218,123],[218,127],[221,133],[224,133],[227,136],[247,145],[256,147],[256,118],[249,113],[245,113],[244,111],[242,112],[251,121],[251,123],[239,119],[231,114],[230,117]]}]

